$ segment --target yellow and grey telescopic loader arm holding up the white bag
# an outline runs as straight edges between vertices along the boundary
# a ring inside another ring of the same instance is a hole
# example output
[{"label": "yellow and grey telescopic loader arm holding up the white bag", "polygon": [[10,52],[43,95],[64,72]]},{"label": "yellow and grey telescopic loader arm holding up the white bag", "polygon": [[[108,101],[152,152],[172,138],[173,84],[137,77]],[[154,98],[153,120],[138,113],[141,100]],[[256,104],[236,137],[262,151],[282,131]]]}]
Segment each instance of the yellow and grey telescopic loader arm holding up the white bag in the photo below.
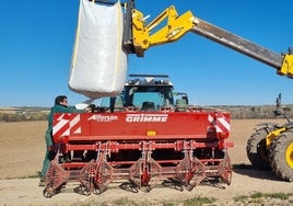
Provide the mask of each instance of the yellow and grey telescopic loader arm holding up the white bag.
[{"label": "yellow and grey telescopic loader arm holding up the white bag", "polygon": [[[128,53],[143,57],[144,52],[150,47],[175,42],[187,32],[194,32],[276,68],[280,76],[293,78],[293,50],[291,49],[286,54],[276,54],[204,22],[196,18],[190,11],[178,15],[173,5],[160,13],[152,22],[145,24],[148,16],[144,18],[143,13],[134,9],[134,3],[129,2],[127,11],[129,15],[126,18],[128,35],[124,39]],[[163,22],[166,22],[166,25],[162,26]],[[159,27],[160,25],[161,27]]]}]

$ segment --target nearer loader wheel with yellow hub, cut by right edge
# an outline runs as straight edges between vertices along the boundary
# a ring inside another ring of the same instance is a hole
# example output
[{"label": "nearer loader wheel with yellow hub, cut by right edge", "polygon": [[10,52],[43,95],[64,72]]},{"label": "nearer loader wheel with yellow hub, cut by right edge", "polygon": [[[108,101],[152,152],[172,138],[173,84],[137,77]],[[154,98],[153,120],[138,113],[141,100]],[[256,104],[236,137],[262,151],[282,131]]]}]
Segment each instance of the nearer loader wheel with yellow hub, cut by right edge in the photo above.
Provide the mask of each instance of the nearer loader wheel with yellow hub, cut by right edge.
[{"label": "nearer loader wheel with yellow hub, cut by right edge", "polygon": [[272,141],[269,158],[273,173],[293,182],[293,133],[284,133]]}]

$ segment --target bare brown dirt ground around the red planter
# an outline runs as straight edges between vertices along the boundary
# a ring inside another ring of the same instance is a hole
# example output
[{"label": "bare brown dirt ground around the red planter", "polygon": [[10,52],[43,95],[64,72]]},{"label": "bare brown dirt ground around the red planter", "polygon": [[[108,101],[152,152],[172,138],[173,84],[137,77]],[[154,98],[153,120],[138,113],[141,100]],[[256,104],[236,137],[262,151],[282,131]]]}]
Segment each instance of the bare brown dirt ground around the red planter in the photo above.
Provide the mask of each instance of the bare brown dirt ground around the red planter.
[{"label": "bare brown dirt ground around the red planter", "polygon": [[[233,164],[249,164],[246,141],[260,122],[277,121],[232,121],[230,139],[235,146],[228,152]],[[67,190],[45,198],[38,179],[25,176],[34,176],[40,170],[46,126],[46,122],[0,123],[0,205],[184,205],[186,199],[199,197],[214,198],[212,205],[293,205],[292,195],[290,201],[235,203],[235,197],[256,192],[293,193],[293,183],[277,180],[270,171],[247,168],[234,170],[230,186],[202,184],[192,192],[155,187],[150,193],[133,194],[113,183],[101,195],[83,196]]]}]

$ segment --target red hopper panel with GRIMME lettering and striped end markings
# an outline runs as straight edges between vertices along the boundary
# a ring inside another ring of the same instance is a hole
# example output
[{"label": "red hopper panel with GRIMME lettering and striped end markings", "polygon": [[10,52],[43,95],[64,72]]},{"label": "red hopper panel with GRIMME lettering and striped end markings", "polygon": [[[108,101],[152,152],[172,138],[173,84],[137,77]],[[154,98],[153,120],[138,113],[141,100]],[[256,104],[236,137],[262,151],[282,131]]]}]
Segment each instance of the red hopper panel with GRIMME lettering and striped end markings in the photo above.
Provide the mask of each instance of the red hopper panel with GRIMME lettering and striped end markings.
[{"label": "red hopper panel with GRIMME lettering and striped end markings", "polygon": [[226,113],[86,113],[56,114],[54,139],[138,140],[227,138]]}]

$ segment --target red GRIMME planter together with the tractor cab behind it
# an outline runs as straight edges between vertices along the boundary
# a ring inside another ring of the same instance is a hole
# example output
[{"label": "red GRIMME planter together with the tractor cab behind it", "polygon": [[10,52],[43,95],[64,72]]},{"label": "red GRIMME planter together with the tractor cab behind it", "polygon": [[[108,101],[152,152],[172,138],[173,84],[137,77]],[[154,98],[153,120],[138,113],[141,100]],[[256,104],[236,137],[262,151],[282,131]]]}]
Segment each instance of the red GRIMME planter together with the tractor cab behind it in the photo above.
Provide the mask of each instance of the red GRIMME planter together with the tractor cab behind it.
[{"label": "red GRIMME planter together with the tractor cab behind it", "polygon": [[208,179],[231,183],[230,115],[189,105],[167,76],[131,77],[121,95],[91,113],[55,115],[45,196],[69,182],[82,194],[98,194],[114,180],[143,191],[160,182],[189,191]]}]

